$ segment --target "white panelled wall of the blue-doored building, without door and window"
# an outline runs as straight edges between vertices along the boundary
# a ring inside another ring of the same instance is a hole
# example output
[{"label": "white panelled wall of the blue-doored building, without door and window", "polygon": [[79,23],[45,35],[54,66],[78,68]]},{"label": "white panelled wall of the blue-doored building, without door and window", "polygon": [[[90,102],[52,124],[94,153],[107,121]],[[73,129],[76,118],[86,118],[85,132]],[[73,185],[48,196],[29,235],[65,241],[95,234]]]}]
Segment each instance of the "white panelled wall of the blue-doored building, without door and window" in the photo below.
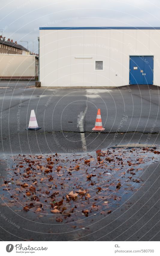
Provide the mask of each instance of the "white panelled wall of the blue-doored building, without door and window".
[{"label": "white panelled wall of the blue-doored building, without door and window", "polygon": [[[154,56],[160,86],[160,30],[40,30],[41,86],[128,85],[130,55]],[[95,71],[95,60],[104,71]]]}]

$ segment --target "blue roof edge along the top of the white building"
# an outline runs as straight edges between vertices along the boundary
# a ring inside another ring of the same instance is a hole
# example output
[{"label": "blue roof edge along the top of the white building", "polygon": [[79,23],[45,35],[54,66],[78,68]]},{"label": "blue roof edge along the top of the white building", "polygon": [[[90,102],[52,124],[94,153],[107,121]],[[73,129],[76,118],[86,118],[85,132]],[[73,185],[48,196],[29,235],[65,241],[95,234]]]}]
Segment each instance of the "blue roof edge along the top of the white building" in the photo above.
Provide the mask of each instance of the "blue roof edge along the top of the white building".
[{"label": "blue roof edge along the top of the white building", "polygon": [[160,29],[160,27],[39,27],[40,30],[62,30],[62,29]]}]

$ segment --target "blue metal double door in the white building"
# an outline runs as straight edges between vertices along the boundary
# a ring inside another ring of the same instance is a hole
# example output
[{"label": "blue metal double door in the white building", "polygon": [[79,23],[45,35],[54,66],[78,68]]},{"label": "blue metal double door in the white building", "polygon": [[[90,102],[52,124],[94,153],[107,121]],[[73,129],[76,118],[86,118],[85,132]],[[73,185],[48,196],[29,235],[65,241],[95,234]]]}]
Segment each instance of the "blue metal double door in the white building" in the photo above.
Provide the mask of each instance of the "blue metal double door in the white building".
[{"label": "blue metal double door in the white building", "polygon": [[153,84],[153,56],[130,56],[129,84]]}]

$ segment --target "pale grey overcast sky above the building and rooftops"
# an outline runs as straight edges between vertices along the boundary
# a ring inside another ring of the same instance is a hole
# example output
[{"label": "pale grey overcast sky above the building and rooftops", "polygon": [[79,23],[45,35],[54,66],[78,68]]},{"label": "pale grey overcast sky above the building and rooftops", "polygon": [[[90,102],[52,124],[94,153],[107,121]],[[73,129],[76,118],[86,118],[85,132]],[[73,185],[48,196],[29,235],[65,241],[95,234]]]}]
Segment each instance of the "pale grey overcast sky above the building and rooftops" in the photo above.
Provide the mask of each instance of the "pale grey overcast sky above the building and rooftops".
[{"label": "pale grey overcast sky above the building and rooftops", "polygon": [[[160,0],[0,0],[3,36],[29,41],[38,52],[39,27],[160,27]],[[3,2],[3,3],[2,3]],[[2,32],[1,32],[2,34]]]}]

